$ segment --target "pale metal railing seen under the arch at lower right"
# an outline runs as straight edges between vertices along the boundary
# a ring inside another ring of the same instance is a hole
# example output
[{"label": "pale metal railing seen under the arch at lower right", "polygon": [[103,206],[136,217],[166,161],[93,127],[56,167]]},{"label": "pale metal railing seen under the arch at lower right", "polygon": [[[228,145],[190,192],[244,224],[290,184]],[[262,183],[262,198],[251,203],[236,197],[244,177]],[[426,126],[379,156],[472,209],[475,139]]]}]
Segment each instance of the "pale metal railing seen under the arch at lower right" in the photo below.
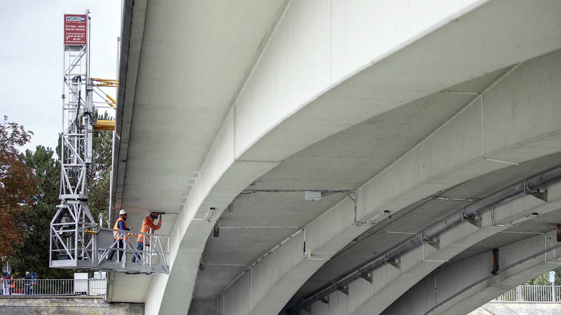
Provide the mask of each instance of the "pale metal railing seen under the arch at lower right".
[{"label": "pale metal railing seen under the arch at lower right", "polygon": [[561,302],[560,285],[519,285],[508,290],[497,301],[503,302]]}]

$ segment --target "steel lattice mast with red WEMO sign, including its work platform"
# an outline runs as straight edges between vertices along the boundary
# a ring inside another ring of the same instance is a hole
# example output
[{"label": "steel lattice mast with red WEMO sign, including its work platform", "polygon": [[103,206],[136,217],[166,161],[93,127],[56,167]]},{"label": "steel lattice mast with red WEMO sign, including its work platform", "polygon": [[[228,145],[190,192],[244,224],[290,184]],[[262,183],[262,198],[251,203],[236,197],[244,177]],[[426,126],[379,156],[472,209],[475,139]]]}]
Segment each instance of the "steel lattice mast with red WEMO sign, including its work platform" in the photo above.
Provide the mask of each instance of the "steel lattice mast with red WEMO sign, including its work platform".
[{"label": "steel lattice mast with red WEMO sign, including its work platform", "polygon": [[[97,105],[100,108],[117,105],[108,94],[105,101],[94,102],[94,92],[104,99],[100,87],[117,87],[117,80],[90,77],[89,11],[84,15],[65,15],[63,45],[60,204],[50,222],[49,266],[169,274],[167,235],[102,228],[88,209],[93,132],[114,130],[115,126],[113,121],[94,121],[94,103],[103,104]],[[135,241],[139,234],[149,237],[151,246],[137,249],[131,239]],[[107,260],[113,256],[110,252],[116,251],[117,261]],[[133,255],[139,263],[128,262]]]}]

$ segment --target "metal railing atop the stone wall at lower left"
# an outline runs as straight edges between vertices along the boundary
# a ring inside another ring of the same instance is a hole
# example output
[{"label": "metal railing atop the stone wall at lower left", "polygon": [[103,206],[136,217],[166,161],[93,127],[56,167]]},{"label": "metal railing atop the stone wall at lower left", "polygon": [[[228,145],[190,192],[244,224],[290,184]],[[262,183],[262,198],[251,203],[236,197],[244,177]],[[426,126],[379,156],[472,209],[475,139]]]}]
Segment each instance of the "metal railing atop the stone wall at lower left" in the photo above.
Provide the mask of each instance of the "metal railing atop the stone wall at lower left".
[{"label": "metal railing atop the stone wall at lower left", "polygon": [[0,295],[3,296],[105,295],[106,291],[107,279],[0,280]]}]

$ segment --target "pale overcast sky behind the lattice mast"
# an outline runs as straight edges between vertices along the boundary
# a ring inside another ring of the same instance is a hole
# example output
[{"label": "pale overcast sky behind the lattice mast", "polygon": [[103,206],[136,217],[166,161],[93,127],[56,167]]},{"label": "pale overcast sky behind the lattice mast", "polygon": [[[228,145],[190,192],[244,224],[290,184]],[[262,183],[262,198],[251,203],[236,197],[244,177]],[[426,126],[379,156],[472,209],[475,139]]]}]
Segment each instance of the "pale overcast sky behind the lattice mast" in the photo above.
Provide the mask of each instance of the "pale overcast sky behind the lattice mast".
[{"label": "pale overcast sky behind the lattice mast", "polygon": [[[117,78],[121,0],[0,0],[0,118],[56,147],[62,121],[63,16],[90,10],[91,76]],[[115,88],[112,88],[115,89]],[[111,91],[111,90],[109,90]],[[109,92],[116,95],[117,91]],[[109,110],[114,117],[114,110]]]}]

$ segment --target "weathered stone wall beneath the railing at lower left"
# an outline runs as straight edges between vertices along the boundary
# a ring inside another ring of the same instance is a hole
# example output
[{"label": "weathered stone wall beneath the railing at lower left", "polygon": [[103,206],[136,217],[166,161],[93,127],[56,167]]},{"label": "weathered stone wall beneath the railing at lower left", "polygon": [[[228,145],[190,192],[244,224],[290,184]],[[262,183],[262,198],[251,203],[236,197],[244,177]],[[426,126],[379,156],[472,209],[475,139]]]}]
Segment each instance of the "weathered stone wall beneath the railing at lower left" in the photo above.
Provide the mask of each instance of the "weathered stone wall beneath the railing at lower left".
[{"label": "weathered stone wall beneath the railing at lower left", "polygon": [[57,314],[57,315],[143,315],[142,304],[107,304],[100,297],[26,297],[1,296],[0,315]]}]

